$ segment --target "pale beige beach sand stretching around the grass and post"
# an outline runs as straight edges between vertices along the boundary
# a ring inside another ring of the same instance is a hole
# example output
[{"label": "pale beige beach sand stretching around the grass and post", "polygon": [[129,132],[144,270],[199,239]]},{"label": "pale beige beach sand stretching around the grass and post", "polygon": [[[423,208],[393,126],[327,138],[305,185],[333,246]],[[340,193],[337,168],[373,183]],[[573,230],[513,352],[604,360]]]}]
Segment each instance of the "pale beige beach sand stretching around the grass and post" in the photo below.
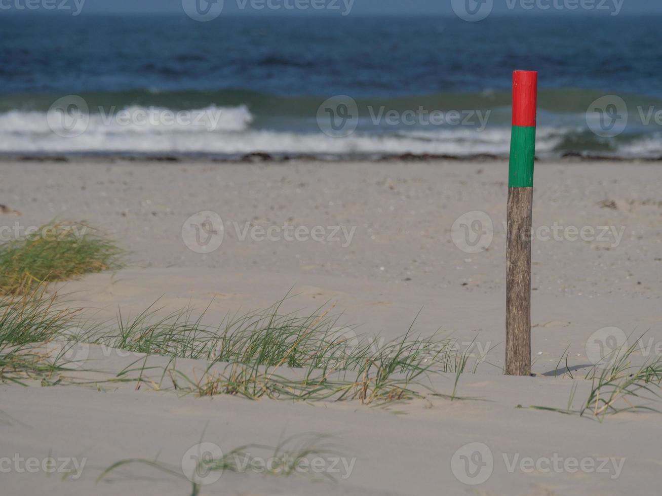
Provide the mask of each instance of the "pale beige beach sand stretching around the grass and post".
[{"label": "pale beige beach sand stretching around the grass and post", "polygon": [[[332,434],[355,457],[346,479],[314,483],[226,472],[201,494],[657,493],[659,413],[622,413],[599,423],[528,407],[567,407],[573,384],[577,404],[588,396],[587,341],[599,329],[618,327],[633,342],[645,333],[652,349],[662,343],[659,165],[538,163],[532,378],[502,375],[506,167],[506,161],[492,160],[1,163],[0,203],[8,208],[0,213],[3,233],[8,226],[40,226],[53,218],[86,220],[131,251],[126,269],[58,285],[69,305],[85,307],[96,319],[113,319],[118,308],[122,315],[137,315],[158,300],[165,312],[209,305],[205,321],[214,323],[228,312],[265,309],[289,294],[283,311],[310,314],[333,306],[332,313],[342,313],[339,322],[359,326],[358,333],[393,339],[415,319],[416,334],[474,342],[472,356],[489,350],[477,373],[459,380],[457,395],[471,399],[428,396],[387,407],[195,398],[135,390],[133,383],[3,384],[3,456],[52,453],[86,457],[87,465],[75,480],[3,474],[2,492],[187,495],[186,479],[144,465],[123,467],[98,484],[95,479],[124,458],[158,455],[179,468],[185,452],[201,441],[229,451],[314,432]],[[206,254],[187,247],[182,237],[187,219],[203,211],[218,214],[224,227],[222,244]],[[491,243],[471,253],[476,250],[451,231],[461,216],[477,215],[489,218],[493,234],[483,222],[480,230]],[[273,227],[271,239],[262,239],[260,226],[265,233]],[[301,227],[299,238],[306,239],[288,241],[287,226]],[[558,365],[566,350],[574,379],[565,374],[565,359]],[[89,360],[115,372],[132,362],[109,355],[93,347]],[[645,358],[641,349],[633,355]],[[194,374],[205,364],[183,360],[182,366]],[[454,374],[442,374],[432,386],[449,395],[454,381]],[[493,455],[491,476],[477,485],[463,483],[451,470],[453,455],[469,442],[487,445]],[[611,461],[603,470],[561,473],[545,470],[544,463],[532,470],[520,465],[525,458],[554,456],[570,464],[597,460],[597,466],[603,459],[620,460],[622,470]]]}]

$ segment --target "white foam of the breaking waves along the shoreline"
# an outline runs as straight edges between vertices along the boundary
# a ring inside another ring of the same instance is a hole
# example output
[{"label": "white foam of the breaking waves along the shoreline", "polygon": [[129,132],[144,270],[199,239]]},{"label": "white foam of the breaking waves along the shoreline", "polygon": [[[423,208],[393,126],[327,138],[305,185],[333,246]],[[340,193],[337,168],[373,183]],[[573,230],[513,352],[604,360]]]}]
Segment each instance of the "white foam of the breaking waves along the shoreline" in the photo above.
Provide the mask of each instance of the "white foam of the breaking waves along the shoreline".
[{"label": "white foam of the breaking waves along the shoreline", "polygon": [[[508,126],[482,131],[444,126],[434,130],[390,133],[365,132],[359,128],[346,138],[332,138],[316,127],[310,132],[252,129],[250,124],[254,116],[246,106],[209,106],[183,112],[130,106],[92,112],[89,116],[73,114],[65,118],[87,119],[83,120],[82,132],[78,136],[63,137],[62,130],[58,129],[60,121],[47,119],[46,112],[13,110],[0,114],[0,151],[218,154],[263,151],[318,155],[429,153],[462,157],[482,153],[505,156],[510,150]],[[63,121],[63,124],[68,123]],[[578,131],[576,128],[539,126],[538,155],[559,155],[557,147],[564,136]],[[649,135],[622,145],[618,151],[623,156],[662,155],[662,136]]]}]

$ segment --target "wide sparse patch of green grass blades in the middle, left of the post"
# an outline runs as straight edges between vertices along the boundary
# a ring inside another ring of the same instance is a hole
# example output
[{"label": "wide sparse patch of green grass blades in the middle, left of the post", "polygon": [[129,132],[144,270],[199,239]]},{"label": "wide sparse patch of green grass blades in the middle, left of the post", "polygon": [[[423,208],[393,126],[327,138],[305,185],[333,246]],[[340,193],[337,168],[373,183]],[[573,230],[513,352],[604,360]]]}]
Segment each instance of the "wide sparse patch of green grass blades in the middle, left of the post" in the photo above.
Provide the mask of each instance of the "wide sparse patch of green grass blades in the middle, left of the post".
[{"label": "wide sparse patch of green grass blades in the middle, left of the post", "polygon": [[454,351],[453,339],[414,336],[412,327],[392,341],[369,339],[338,325],[332,308],[300,316],[281,314],[282,303],[265,311],[228,314],[217,326],[202,323],[205,312],[195,319],[191,308],[158,317],[152,306],[134,319],[120,315],[117,325],[78,339],[207,360],[201,377],[169,370],[175,388],[250,399],[359,399],[367,404],[411,399],[430,392],[430,374],[459,375],[469,362],[467,352]]}]

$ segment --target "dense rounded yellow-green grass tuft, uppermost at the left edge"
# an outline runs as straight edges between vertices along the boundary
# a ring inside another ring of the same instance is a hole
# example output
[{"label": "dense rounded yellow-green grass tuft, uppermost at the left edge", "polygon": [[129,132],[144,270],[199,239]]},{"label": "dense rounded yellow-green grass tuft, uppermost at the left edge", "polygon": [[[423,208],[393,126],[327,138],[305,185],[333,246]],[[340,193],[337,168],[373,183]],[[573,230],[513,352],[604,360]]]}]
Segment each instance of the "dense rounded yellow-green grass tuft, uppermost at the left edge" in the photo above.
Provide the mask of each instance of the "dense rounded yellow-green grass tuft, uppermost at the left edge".
[{"label": "dense rounded yellow-green grass tuft, uppermost at the left edge", "polygon": [[51,222],[0,244],[0,294],[30,293],[42,282],[120,269],[124,252],[83,222]]}]

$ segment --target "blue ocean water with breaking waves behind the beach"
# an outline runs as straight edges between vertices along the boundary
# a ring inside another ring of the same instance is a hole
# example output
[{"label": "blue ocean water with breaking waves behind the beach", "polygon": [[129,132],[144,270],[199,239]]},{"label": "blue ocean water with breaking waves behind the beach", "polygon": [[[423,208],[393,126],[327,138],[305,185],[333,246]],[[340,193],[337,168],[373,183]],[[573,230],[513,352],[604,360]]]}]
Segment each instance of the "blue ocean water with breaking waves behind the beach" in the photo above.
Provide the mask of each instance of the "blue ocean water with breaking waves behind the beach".
[{"label": "blue ocean water with breaking waves behind the beach", "polygon": [[0,14],[0,152],[662,157],[662,17]]}]

